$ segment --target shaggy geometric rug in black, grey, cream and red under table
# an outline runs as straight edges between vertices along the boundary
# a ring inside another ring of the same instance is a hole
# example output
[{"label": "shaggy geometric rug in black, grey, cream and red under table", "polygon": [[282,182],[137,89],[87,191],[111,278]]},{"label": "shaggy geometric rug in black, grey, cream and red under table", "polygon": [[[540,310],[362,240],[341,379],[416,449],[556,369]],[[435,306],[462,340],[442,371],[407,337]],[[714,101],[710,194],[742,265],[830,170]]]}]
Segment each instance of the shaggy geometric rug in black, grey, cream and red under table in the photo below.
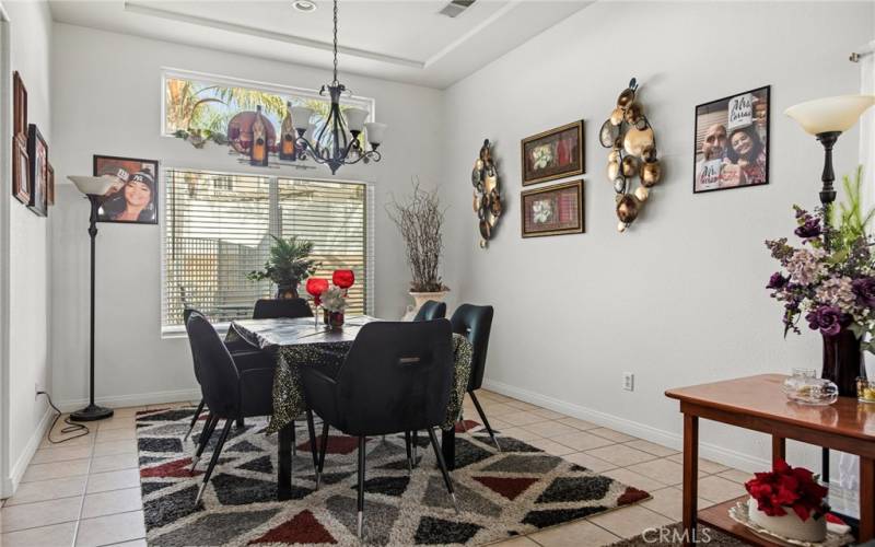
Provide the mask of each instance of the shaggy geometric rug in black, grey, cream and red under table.
[{"label": "shaggy geometric rug in black, grey, cream and red under table", "polygon": [[[650,496],[609,477],[499,435],[497,452],[476,422],[456,435],[452,472],[460,514],[436,468],[428,435],[408,473],[404,435],[366,443],[364,533],[357,527],[357,441],[334,432],[322,487],[316,490],[306,423],[296,422],[293,499],[277,501],[277,435],[266,420],[232,429],[210,486],[195,497],[209,462],[208,447],[189,473],[197,432],[184,440],[194,408],[137,416],[147,539],[189,545],[481,545],[634,503]],[[320,428],[317,424],[317,431]],[[218,435],[215,435],[218,437]]]}]

